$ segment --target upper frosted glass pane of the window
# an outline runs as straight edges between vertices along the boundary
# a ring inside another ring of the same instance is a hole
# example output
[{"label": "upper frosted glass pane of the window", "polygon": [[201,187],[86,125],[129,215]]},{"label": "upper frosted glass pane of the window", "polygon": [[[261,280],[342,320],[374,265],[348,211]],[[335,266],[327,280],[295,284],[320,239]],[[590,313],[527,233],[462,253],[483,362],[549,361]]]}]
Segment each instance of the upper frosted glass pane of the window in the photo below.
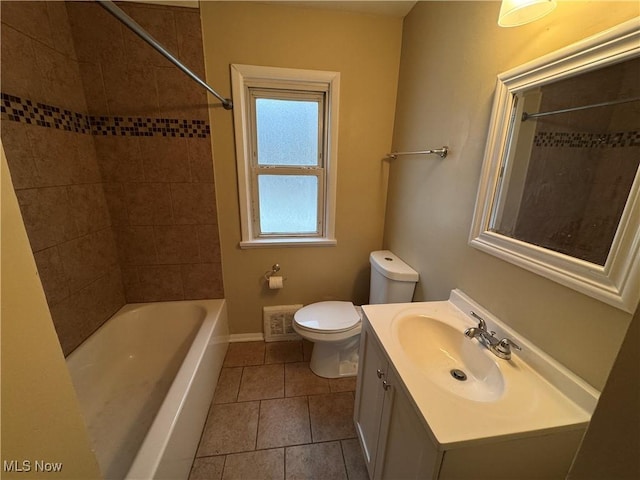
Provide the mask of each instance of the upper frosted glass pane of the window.
[{"label": "upper frosted glass pane of the window", "polygon": [[318,102],[256,99],[259,165],[318,165]]}]

